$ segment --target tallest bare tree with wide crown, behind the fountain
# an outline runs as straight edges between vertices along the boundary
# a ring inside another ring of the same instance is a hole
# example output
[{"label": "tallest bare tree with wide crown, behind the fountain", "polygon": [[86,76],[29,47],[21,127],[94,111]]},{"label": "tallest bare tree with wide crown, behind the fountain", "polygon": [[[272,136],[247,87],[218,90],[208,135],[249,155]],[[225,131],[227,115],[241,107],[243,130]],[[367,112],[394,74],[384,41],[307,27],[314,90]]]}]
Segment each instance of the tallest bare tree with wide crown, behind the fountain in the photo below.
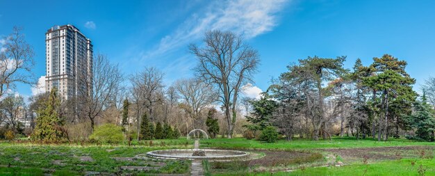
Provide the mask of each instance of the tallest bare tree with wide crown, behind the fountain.
[{"label": "tallest bare tree with wide crown, behind the fountain", "polygon": [[228,138],[233,134],[237,119],[237,99],[240,88],[252,82],[252,74],[259,62],[258,52],[243,42],[243,38],[230,31],[208,31],[205,46],[190,45],[197,56],[198,77],[213,83],[220,92],[228,124]]}]

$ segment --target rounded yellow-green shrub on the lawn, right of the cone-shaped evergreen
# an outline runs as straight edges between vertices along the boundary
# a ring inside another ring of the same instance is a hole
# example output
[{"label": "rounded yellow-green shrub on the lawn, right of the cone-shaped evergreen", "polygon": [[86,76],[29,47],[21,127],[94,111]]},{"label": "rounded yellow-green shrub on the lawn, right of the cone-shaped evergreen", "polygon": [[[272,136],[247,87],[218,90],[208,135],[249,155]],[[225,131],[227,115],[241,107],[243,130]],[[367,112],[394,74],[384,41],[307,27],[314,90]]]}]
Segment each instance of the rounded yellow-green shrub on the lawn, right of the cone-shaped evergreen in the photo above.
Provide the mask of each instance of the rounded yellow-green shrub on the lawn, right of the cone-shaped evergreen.
[{"label": "rounded yellow-green shrub on the lawn, right of the cone-shaped evergreen", "polygon": [[124,140],[124,135],[122,127],[106,123],[95,128],[89,138],[100,143],[121,143]]}]

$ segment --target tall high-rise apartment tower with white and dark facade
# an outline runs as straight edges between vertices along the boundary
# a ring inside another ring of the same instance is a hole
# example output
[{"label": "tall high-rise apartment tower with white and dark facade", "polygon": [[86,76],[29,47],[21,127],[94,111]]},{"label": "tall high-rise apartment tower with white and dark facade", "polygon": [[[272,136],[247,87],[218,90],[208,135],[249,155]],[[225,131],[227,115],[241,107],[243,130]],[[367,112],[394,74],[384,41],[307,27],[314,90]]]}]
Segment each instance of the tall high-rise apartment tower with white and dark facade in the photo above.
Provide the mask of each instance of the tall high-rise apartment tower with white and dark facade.
[{"label": "tall high-rise apartment tower with white and dark facade", "polygon": [[[53,26],[45,33],[45,90],[57,88],[68,99],[92,91],[92,43],[75,26]],[[87,85],[88,84],[88,85]]]}]

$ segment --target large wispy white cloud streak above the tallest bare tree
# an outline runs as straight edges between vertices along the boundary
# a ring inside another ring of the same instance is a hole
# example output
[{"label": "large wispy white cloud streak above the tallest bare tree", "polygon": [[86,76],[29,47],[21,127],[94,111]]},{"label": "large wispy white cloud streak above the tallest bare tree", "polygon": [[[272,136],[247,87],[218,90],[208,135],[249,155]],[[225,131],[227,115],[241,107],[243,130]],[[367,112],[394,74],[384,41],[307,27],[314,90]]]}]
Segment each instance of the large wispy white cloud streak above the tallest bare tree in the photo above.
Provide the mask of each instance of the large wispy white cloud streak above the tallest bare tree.
[{"label": "large wispy white cloud streak above the tallest bare tree", "polygon": [[277,26],[279,11],[287,0],[214,1],[202,11],[191,15],[176,31],[161,39],[156,48],[142,55],[142,59],[165,54],[172,49],[186,47],[202,38],[208,30],[230,30],[254,38]]}]

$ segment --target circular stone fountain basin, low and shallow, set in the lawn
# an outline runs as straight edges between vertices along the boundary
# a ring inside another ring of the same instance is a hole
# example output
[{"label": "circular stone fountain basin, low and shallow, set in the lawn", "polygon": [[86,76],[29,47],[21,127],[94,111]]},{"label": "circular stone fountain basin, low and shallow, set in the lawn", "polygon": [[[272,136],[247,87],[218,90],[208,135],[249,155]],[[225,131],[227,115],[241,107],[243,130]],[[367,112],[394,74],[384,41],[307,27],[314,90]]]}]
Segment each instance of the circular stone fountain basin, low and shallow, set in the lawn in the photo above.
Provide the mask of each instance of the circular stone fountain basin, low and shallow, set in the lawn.
[{"label": "circular stone fountain basin, low and shallow, set in the lawn", "polygon": [[[206,156],[192,156],[195,151],[204,151]],[[249,152],[238,150],[213,150],[213,149],[171,149],[154,150],[147,152],[148,157],[156,159],[236,159],[247,157]]]}]

